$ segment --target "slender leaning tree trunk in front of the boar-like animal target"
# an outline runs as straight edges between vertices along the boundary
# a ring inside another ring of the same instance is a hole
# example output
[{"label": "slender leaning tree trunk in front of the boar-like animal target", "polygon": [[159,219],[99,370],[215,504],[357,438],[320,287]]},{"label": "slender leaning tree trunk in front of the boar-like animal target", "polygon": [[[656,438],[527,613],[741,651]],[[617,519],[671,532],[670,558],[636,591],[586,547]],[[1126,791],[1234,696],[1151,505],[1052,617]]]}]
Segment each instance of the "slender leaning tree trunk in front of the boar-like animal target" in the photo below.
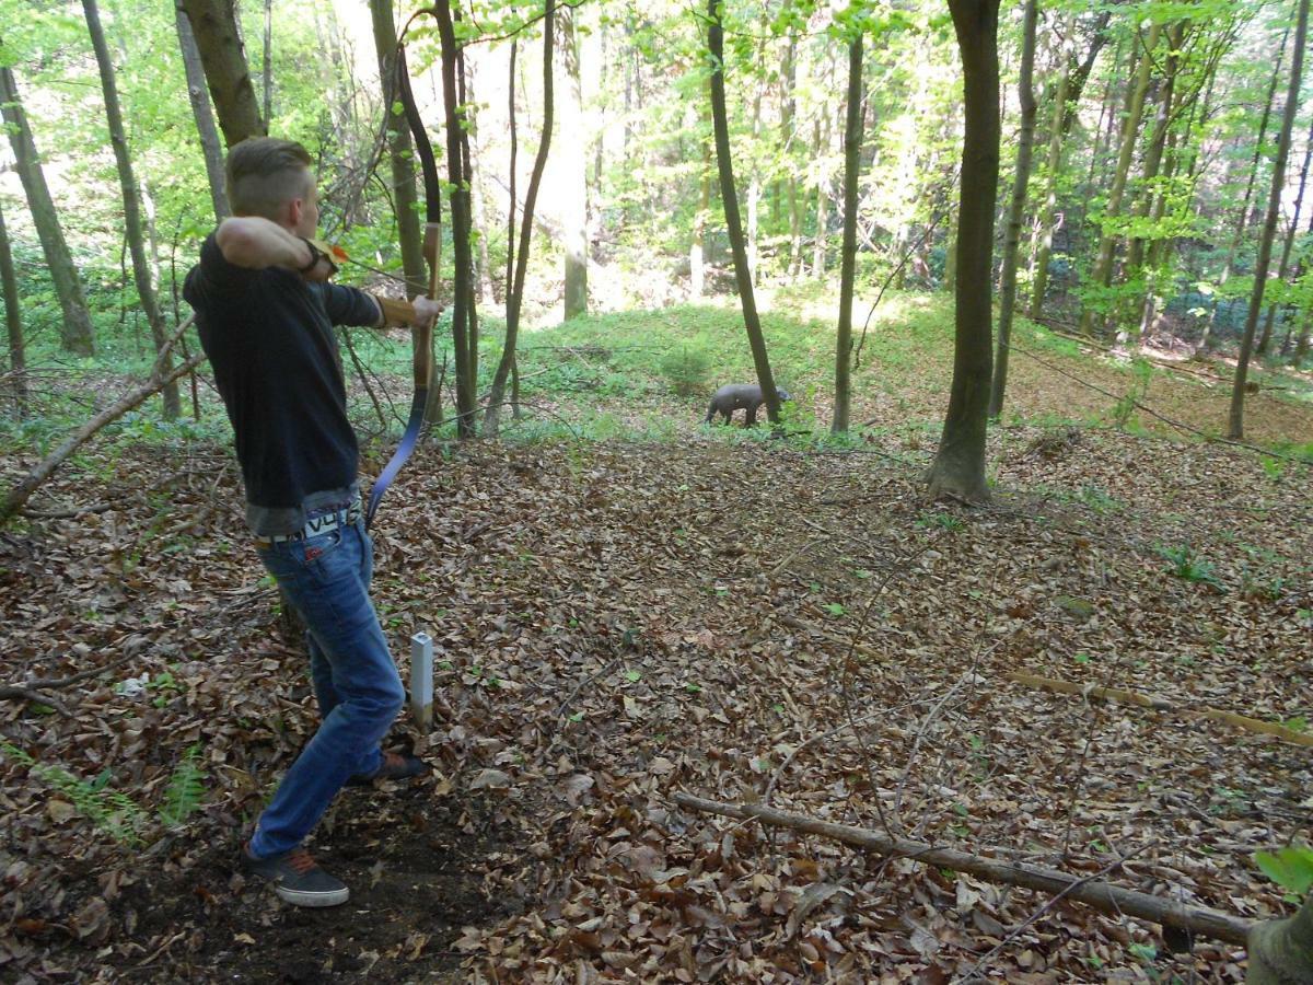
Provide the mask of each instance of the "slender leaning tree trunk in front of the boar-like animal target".
[{"label": "slender leaning tree trunk in front of the boar-like animal target", "polygon": [[725,25],[721,21],[723,0],[708,0],[706,46],[712,55],[712,127],[716,131],[716,164],[721,176],[721,204],[725,206],[725,227],[734,251],[734,274],[738,281],[739,302],[743,307],[743,327],[747,330],[756,366],[756,381],[765,398],[765,412],[771,424],[780,426],[780,395],[775,391],[771,359],[765,351],[762,319],[756,313],[756,294],[752,290],[752,271],[747,259],[743,221],[739,218],[738,193],[734,189],[734,164],[730,159],[730,126],[725,108]]}]

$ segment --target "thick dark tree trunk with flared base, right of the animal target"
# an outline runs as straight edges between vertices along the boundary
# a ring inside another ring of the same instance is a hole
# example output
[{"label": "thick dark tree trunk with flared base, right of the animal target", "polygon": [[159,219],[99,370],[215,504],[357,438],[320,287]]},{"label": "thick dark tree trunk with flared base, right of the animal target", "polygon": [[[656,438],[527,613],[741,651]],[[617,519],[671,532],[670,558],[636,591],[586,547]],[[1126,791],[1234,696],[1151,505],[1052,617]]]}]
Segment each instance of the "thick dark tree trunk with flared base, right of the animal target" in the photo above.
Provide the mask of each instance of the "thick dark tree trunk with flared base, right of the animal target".
[{"label": "thick dark tree trunk with flared base, right of the animal target", "polygon": [[999,0],[948,0],[962,58],[961,196],[957,208],[957,292],[953,382],[944,432],[926,473],[931,496],[989,499],[985,429],[993,376],[994,204],[998,197]]}]

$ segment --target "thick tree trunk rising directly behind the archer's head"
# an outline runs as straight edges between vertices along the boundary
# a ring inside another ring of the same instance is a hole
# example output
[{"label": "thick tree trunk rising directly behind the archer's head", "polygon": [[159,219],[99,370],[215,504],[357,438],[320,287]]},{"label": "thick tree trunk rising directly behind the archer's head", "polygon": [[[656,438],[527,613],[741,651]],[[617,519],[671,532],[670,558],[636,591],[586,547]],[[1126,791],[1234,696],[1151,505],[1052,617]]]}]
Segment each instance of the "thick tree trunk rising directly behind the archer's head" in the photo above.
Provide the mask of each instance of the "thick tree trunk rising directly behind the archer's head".
[{"label": "thick tree trunk rising directly behind the archer's head", "polygon": [[260,118],[260,104],[238,30],[236,0],[179,1],[192,21],[225,143],[231,147],[248,137],[264,137],[267,123]]}]

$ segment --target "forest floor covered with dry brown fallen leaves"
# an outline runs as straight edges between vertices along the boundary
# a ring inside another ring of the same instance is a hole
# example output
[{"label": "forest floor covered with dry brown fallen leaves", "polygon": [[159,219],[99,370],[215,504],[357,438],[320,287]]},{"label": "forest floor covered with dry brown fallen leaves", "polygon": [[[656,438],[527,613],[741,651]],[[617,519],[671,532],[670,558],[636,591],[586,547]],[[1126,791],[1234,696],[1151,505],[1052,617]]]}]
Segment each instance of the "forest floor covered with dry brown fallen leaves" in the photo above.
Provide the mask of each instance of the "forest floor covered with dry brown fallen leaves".
[{"label": "forest floor covered with dry brown fallen leaves", "polygon": [[[1057,370],[1116,394],[1125,376],[1044,359],[1014,360],[986,508],[920,485],[947,366],[863,398],[855,448],[645,397],[599,406],[672,439],[416,453],[374,594],[403,678],[410,636],[433,636],[437,722],[398,739],[435,772],[339,799],[311,847],[352,898],[326,911],[235,871],[315,714],[228,449],[92,452],[32,504],[92,511],[0,532],[0,684],[91,671],[0,704],[0,980],[1242,981],[1232,944],[1171,955],[1134,919],[671,801],[768,799],[1289,910],[1254,851],[1310,838],[1313,754],[1187,712],[1309,729],[1310,466],[1149,416],[1070,423],[1112,401]],[[1141,393],[1200,429],[1225,397],[1175,376]],[[1260,391],[1247,431],[1308,441],[1313,407]],[[204,797],[161,837],[189,762]],[[142,843],[113,837],[134,820]]]}]

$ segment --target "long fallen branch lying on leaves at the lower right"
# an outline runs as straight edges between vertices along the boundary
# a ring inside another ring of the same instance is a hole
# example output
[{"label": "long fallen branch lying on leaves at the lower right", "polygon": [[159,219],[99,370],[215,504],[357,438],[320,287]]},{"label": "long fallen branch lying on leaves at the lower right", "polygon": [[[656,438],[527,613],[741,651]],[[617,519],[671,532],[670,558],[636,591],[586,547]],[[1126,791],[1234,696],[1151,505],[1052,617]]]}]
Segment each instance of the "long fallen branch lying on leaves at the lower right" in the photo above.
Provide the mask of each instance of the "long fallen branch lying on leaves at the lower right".
[{"label": "long fallen branch lying on leaves at the lower right", "polygon": [[911,859],[924,865],[939,865],[941,868],[951,868],[955,872],[965,872],[987,883],[1019,885],[1044,893],[1064,893],[1066,898],[1083,902],[1102,913],[1115,917],[1137,917],[1159,923],[1163,927],[1174,927],[1190,934],[1226,940],[1232,944],[1245,944],[1249,930],[1253,926],[1250,921],[1232,917],[1228,913],[1220,913],[1207,906],[1190,906],[1161,896],[1149,896],[1148,893],[1132,889],[1121,889],[1109,883],[1082,879],[1058,869],[1022,865],[1015,862],[972,855],[956,848],[941,848],[903,838],[889,838],[861,827],[817,821],[805,814],[792,814],[755,804],[722,804],[714,800],[695,797],[689,793],[676,793],[674,800],[679,806],[688,808],[689,810],[702,810],[739,820],[755,818],[773,827],[788,827],[794,831],[817,834],[856,848],[876,851],[881,855]]}]

